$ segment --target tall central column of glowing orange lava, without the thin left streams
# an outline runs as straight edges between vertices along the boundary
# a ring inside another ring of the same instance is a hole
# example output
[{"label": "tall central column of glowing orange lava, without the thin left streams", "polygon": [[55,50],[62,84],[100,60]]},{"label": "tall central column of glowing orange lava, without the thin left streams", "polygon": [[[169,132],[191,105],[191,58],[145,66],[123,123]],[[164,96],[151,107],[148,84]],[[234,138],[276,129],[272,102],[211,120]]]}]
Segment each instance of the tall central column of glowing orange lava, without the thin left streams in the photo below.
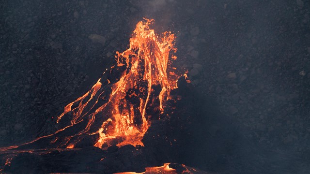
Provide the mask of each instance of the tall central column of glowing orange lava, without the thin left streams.
[{"label": "tall central column of glowing orange lava, without the thin left streams", "polygon": [[[130,47],[123,53],[117,52],[117,66],[126,66],[120,80],[112,86],[109,102],[98,111],[106,110],[111,116],[102,123],[100,135],[95,144],[101,147],[109,139],[124,137],[121,145],[143,145],[141,139],[148,130],[149,123],[146,110],[149,104],[158,98],[159,109],[167,100],[170,90],[175,88],[177,76],[167,73],[169,53],[174,52],[174,34],[165,32],[161,37],[150,29],[153,20],[139,22],[130,39]],[[175,56],[172,56],[175,59]],[[155,89],[160,86],[158,96],[154,97]],[[107,107],[109,105],[109,107]],[[109,143],[108,143],[109,145]]]}]

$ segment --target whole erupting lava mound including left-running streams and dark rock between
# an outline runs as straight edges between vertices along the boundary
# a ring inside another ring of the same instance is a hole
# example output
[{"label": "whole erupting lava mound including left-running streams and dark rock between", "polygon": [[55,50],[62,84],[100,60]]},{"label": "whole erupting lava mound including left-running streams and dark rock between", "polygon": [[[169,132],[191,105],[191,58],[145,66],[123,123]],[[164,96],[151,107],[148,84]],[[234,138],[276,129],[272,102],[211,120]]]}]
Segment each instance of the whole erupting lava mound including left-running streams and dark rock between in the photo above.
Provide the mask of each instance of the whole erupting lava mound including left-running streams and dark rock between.
[{"label": "whole erupting lava mound including left-running streams and dark rock between", "polygon": [[64,107],[57,118],[62,129],[17,148],[29,148],[32,143],[46,148],[46,141],[51,148],[75,148],[87,138],[99,148],[143,145],[144,133],[152,120],[160,119],[180,77],[171,65],[177,50],[174,34],[156,34],[150,29],[153,23],[153,19],[140,21],[129,48],[116,53],[116,64],[91,90]]}]

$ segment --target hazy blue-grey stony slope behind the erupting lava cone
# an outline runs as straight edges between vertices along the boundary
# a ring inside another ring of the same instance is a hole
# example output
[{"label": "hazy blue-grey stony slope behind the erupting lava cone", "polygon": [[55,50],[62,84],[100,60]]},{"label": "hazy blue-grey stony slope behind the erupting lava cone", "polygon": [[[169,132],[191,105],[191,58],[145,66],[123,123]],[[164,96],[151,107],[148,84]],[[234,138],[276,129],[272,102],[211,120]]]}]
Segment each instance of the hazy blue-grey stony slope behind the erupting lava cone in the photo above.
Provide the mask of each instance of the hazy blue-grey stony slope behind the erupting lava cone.
[{"label": "hazy blue-grey stony slope behind the erupting lava cone", "polygon": [[54,132],[144,16],[177,34],[179,68],[248,139],[309,167],[306,0],[1,0],[0,146]]}]

